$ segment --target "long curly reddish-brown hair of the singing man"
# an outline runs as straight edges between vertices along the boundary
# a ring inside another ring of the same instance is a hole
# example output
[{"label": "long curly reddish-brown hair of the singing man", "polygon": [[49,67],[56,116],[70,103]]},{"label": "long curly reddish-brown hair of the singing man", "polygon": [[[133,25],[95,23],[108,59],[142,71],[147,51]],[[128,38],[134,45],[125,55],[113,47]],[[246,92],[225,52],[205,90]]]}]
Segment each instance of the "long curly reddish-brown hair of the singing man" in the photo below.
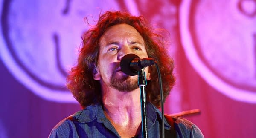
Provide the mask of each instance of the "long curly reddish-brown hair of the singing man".
[{"label": "long curly reddish-brown hair of the singing man", "polygon": [[[166,52],[163,37],[153,32],[153,28],[143,16],[136,17],[122,11],[107,11],[99,17],[96,25],[91,26],[82,35],[83,41],[79,49],[78,63],[67,76],[67,88],[70,89],[82,108],[101,103],[101,86],[99,81],[93,79],[93,70],[97,65],[99,55],[99,39],[109,27],[117,24],[133,26],[143,37],[148,57],[157,60],[160,67],[164,100],[175,84],[174,63]],[[149,70],[151,80],[148,80],[146,87],[147,101],[153,103],[156,107],[160,107],[157,70],[155,66],[150,66]]]}]

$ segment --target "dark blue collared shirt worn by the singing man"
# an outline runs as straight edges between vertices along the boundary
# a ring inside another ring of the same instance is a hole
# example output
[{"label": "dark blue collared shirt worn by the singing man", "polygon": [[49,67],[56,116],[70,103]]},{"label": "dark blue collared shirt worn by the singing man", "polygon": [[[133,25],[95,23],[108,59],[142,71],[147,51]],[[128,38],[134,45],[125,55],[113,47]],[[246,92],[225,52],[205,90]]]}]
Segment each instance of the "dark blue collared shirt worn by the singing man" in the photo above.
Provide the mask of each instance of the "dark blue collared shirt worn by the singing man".
[{"label": "dark blue collared shirt worn by the singing man", "polygon": [[[172,117],[177,138],[204,138],[200,129],[183,118]],[[151,103],[147,103],[148,138],[160,138],[161,113]],[[171,126],[164,120],[166,131]],[[165,131],[165,132],[166,132]],[[140,130],[138,138],[142,138]],[[102,105],[90,105],[84,110],[59,122],[49,135],[49,138],[120,138],[118,132],[106,118]]]}]

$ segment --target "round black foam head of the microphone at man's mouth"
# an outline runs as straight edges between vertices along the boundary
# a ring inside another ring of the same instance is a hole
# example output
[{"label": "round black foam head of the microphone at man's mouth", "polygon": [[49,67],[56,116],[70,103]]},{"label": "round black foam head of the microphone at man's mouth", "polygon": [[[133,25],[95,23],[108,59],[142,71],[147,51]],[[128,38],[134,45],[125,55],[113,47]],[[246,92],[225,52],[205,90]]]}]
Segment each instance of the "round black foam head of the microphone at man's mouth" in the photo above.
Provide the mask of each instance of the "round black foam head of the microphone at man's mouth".
[{"label": "round black foam head of the microphone at man's mouth", "polygon": [[122,69],[122,72],[129,76],[137,75],[137,70],[132,69],[130,66],[130,63],[132,60],[134,60],[134,58],[140,59],[140,57],[135,54],[127,54],[124,57],[122,57],[122,60],[120,61],[120,67]]}]

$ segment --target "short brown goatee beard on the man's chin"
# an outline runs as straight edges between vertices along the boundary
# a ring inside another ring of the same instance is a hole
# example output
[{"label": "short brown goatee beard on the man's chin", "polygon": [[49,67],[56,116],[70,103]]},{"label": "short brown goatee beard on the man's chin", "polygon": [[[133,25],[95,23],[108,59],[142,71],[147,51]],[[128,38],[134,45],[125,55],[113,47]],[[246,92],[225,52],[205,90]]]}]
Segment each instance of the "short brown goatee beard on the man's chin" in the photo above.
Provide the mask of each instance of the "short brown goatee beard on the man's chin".
[{"label": "short brown goatee beard on the man's chin", "polygon": [[110,84],[121,92],[131,92],[138,88],[138,80],[132,79],[128,75],[118,75],[117,72],[113,72],[111,75]]}]

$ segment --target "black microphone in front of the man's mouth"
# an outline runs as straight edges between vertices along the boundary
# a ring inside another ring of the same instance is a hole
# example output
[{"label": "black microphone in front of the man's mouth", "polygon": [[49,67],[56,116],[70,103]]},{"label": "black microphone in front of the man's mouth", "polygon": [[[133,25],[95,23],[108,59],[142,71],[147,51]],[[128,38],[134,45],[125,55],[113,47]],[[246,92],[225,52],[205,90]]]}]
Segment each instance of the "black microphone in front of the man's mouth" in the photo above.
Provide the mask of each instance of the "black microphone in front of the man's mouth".
[{"label": "black microphone in front of the man's mouth", "polygon": [[157,61],[153,58],[143,58],[141,59],[139,56],[135,54],[127,54],[122,57],[120,61],[120,67],[122,72],[129,76],[137,75],[138,71],[141,71],[146,66],[154,65]]}]

